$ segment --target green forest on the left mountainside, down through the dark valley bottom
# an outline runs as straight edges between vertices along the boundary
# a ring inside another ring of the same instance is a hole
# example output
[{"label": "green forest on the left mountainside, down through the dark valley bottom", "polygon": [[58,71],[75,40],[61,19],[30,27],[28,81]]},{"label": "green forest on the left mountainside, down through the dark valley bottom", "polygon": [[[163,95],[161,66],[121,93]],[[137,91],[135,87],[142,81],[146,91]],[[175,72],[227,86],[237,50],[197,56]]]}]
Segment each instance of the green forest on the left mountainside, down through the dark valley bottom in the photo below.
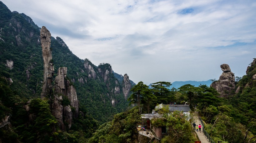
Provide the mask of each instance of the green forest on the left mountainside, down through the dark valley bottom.
[{"label": "green forest on the left mountainside, down through the dark valley bottom", "polygon": [[[98,67],[90,62],[97,77],[89,78],[85,60],[75,56],[61,38],[52,37],[54,78],[59,67],[67,67],[67,79],[76,88],[79,110],[82,111],[73,119],[70,130],[60,131],[55,118],[47,111],[51,112],[51,102],[38,99],[43,81],[40,28],[31,20],[28,22],[29,17],[25,14],[11,12],[2,2],[0,12],[0,119],[12,114],[12,129],[7,126],[0,129],[0,142],[86,142],[100,124],[111,121],[114,114],[127,109],[129,105],[122,94],[122,82],[116,84],[114,74],[110,73],[104,81],[97,72]],[[7,61],[13,65],[8,67]],[[112,70],[109,64],[99,67],[102,71]],[[120,93],[113,92],[115,87],[120,87]],[[62,98],[62,105],[69,105],[68,98]],[[23,108],[28,99],[32,99],[29,112]]]}]

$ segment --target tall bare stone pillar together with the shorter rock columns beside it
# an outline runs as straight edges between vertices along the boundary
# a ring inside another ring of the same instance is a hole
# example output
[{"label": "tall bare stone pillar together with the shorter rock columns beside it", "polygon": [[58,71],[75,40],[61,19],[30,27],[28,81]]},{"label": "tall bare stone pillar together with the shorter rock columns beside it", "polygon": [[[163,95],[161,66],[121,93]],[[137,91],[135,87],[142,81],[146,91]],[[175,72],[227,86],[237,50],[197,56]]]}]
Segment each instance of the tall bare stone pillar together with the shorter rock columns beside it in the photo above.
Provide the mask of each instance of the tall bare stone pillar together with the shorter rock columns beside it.
[{"label": "tall bare stone pillar together with the shorter rock columns beside it", "polygon": [[[53,95],[52,76],[54,74],[54,68],[52,63],[51,34],[46,27],[43,26],[40,35],[44,61],[44,82],[41,93],[41,98],[43,99],[47,97],[47,95]],[[66,46],[62,39],[58,38],[58,42],[62,43],[63,46]],[[62,130],[66,129],[63,120],[68,124],[67,127],[70,128],[73,118],[71,107],[69,105],[62,105],[62,96],[67,96],[70,101],[70,105],[75,108],[74,118],[77,118],[79,114],[76,89],[70,84],[70,81],[66,79],[66,74],[66,67],[61,67],[58,69],[54,85],[54,99],[51,105],[52,115],[57,119],[59,127]]]}]

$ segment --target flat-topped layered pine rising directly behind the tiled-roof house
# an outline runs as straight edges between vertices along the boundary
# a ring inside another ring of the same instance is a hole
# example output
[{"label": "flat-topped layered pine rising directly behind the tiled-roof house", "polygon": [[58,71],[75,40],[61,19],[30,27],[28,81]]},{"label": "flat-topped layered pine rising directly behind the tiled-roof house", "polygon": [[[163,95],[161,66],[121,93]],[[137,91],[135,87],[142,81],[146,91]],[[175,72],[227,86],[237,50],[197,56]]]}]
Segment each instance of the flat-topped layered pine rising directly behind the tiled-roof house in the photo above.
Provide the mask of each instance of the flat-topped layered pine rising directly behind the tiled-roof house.
[{"label": "flat-topped layered pine rising directly behind the tiled-roof house", "polygon": [[156,103],[168,103],[168,100],[171,98],[171,91],[167,87],[170,87],[171,85],[170,82],[152,83],[151,87],[153,87],[153,94],[157,98]]}]

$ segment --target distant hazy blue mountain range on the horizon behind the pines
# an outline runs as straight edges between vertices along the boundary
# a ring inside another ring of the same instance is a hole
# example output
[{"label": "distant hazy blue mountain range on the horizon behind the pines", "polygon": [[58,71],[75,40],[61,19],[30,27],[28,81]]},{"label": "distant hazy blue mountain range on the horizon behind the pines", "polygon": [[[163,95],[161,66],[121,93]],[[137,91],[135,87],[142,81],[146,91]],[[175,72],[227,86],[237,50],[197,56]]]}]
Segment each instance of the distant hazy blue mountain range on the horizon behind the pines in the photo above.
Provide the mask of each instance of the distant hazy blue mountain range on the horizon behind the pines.
[{"label": "distant hazy blue mountain range on the horizon behind the pines", "polygon": [[[210,79],[207,81],[175,81],[175,82],[171,83],[172,85],[170,86],[169,89],[171,89],[172,87],[179,88],[185,84],[191,84],[191,85],[194,85],[195,87],[198,87],[200,84],[210,86],[211,83],[212,83],[212,81]],[[150,83],[149,87],[151,87],[151,84],[152,83]]]}]

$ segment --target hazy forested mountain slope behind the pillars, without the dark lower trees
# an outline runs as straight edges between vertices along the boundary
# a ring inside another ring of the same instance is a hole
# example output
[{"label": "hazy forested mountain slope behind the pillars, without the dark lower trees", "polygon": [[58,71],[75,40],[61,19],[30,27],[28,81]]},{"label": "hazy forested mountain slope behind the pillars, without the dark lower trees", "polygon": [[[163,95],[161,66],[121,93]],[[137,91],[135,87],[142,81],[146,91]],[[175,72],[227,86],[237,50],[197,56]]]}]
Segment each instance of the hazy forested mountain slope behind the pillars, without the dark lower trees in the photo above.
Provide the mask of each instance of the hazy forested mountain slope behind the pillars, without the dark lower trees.
[{"label": "hazy forested mountain slope behind the pillars, without the dark lower trees", "polygon": [[[11,121],[16,123],[20,118],[17,111],[28,99],[40,98],[42,92],[41,28],[29,16],[11,12],[1,1],[0,13],[0,116],[12,114]],[[51,38],[51,50],[55,72],[67,67],[67,79],[75,86],[80,111],[88,120],[105,123],[126,110],[122,81],[114,76],[110,64],[95,66],[88,59],[79,59],[59,37]]]}]

